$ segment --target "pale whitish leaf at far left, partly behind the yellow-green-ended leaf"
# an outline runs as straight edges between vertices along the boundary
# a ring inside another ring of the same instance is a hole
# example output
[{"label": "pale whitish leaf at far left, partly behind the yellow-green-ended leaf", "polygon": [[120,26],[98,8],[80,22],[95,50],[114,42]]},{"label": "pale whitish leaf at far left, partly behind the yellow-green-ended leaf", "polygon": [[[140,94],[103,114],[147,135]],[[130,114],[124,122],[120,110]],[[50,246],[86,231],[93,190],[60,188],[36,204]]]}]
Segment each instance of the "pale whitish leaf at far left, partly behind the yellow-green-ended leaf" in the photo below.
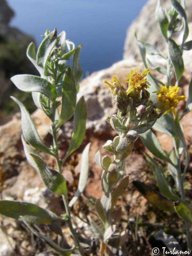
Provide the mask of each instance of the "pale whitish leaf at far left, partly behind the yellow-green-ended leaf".
[{"label": "pale whitish leaf at far left, partly behind the yellow-green-ended leaf", "polygon": [[[39,172],[38,170],[38,167],[36,165],[36,162],[34,161],[34,158],[30,155],[30,153],[32,154],[35,154],[37,155],[38,157],[41,158],[41,156],[39,155],[39,153],[37,152],[37,150],[35,150],[34,148],[32,148],[28,143],[27,143],[27,140],[25,140],[25,137],[21,136],[21,141],[22,141],[22,144],[23,144],[23,149],[24,149],[24,152],[25,152],[25,156],[27,158],[27,161],[28,163],[37,171]],[[43,160],[43,159],[42,159]]]}]

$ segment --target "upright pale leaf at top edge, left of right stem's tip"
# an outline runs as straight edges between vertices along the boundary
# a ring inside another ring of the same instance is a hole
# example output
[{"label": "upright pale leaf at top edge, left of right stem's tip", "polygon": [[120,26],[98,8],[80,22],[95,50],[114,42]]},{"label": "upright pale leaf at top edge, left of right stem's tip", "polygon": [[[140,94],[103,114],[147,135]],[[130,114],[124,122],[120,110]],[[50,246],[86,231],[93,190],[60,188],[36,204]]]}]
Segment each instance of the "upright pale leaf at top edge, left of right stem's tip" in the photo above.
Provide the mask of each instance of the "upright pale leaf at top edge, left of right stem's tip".
[{"label": "upright pale leaf at top edge, left of right stem's tip", "polygon": [[167,30],[169,27],[169,20],[167,19],[162,7],[160,0],[157,1],[156,10],[155,10],[155,18],[159,23],[159,27],[162,35],[167,38]]}]

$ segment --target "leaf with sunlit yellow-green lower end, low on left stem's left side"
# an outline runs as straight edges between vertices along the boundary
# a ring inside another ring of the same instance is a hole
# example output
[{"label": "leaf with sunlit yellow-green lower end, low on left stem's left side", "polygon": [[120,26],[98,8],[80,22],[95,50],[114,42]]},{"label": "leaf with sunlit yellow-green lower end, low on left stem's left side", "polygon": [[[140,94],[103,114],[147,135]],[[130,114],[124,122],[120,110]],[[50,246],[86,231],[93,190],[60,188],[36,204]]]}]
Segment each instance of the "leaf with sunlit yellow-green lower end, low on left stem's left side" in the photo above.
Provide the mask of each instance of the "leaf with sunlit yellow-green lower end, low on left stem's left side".
[{"label": "leaf with sunlit yellow-green lower end, low on left stem's left side", "polygon": [[30,154],[38,167],[39,174],[45,186],[55,194],[66,196],[68,193],[66,180],[59,172],[50,169],[39,156]]}]

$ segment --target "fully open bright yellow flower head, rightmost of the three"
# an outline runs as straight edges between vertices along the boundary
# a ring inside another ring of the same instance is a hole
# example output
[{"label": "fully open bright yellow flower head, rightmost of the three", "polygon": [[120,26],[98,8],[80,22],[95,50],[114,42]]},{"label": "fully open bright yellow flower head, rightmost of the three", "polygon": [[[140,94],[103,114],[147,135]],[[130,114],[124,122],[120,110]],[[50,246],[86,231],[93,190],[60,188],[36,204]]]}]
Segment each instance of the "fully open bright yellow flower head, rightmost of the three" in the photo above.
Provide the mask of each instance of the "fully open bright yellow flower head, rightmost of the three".
[{"label": "fully open bright yellow flower head, rightmost of the three", "polygon": [[169,113],[171,110],[173,111],[174,115],[176,115],[175,107],[177,107],[180,100],[187,98],[183,95],[177,96],[179,90],[180,87],[178,86],[169,86],[169,88],[167,88],[167,85],[165,84],[165,86],[161,85],[159,91],[155,91],[158,94],[157,100],[162,103],[162,107],[168,108],[164,115]]}]

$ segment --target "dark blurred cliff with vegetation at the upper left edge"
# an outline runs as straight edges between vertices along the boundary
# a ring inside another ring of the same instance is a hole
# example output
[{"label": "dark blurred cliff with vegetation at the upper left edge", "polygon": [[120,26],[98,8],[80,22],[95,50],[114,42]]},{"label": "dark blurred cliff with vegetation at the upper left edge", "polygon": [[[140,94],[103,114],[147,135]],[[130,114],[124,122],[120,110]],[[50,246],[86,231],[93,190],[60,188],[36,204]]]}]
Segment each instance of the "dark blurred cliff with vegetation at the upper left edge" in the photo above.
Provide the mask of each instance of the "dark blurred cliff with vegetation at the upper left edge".
[{"label": "dark blurred cliff with vegetation at the upper left edge", "polygon": [[5,0],[0,0],[0,109],[9,113],[12,106],[10,95],[20,93],[10,77],[16,74],[37,74],[26,56],[27,46],[34,41],[32,36],[9,26],[14,12]]}]

